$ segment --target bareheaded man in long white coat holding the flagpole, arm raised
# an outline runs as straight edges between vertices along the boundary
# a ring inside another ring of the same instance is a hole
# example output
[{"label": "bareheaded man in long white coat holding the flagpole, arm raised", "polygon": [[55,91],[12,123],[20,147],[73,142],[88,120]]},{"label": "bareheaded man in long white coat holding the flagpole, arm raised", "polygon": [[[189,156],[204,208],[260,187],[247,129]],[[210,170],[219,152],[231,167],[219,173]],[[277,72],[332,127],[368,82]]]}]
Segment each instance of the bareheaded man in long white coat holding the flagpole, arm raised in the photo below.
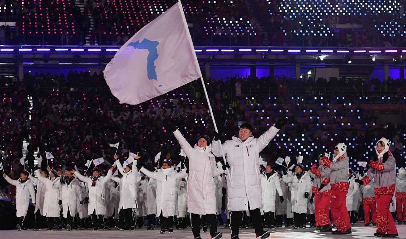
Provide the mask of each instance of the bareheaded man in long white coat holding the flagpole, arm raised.
[{"label": "bareheaded man in long white coat holding the flagpole, arm raised", "polygon": [[[259,239],[269,237],[270,232],[264,231],[262,226],[261,212],[262,193],[261,178],[259,174],[259,153],[268,146],[285,124],[285,117],[278,120],[259,138],[253,137],[253,127],[244,123],[240,127],[238,135],[232,140],[225,141],[220,146],[219,134],[214,134],[212,152],[215,156],[227,156],[230,170],[227,180],[228,210],[231,219],[231,239],[238,239],[239,224],[243,211],[250,210],[251,219],[255,226],[255,234]],[[223,155],[224,154],[224,155]]]}]

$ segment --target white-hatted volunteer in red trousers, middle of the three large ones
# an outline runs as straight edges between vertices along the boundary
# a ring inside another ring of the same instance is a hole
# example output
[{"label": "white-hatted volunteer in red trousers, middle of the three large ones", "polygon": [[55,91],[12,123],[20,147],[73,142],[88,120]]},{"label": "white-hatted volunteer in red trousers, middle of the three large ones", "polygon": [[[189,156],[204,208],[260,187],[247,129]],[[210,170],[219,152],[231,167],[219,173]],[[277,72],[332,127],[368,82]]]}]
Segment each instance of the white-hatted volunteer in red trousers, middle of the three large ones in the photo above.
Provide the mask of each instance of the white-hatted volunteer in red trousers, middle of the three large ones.
[{"label": "white-hatted volunteer in red trousers, middle of the three large ones", "polygon": [[348,169],[350,159],[347,156],[347,146],[339,143],[334,149],[333,161],[323,156],[324,164],[331,169],[330,184],[332,190],[332,202],[330,204],[333,222],[337,230],[333,234],[350,234],[351,224],[346,206],[346,197],[348,193]]}]

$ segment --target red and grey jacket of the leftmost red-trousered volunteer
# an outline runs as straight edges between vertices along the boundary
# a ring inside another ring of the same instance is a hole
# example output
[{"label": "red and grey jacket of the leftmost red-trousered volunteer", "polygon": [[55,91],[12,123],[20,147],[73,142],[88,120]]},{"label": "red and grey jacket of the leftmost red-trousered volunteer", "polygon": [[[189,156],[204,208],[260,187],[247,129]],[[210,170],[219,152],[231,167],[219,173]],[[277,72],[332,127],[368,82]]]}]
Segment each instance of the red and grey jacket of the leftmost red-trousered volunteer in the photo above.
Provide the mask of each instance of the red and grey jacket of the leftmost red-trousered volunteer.
[{"label": "red and grey jacket of the leftmost red-trousered volunteer", "polygon": [[[313,194],[317,194],[320,197],[331,196],[331,187],[330,187],[330,172],[331,170],[326,166],[317,167],[316,164],[310,169],[310,172],[314,175],[313,181]],[[324,185],[322,190],[319,191],[321,185]]]}]

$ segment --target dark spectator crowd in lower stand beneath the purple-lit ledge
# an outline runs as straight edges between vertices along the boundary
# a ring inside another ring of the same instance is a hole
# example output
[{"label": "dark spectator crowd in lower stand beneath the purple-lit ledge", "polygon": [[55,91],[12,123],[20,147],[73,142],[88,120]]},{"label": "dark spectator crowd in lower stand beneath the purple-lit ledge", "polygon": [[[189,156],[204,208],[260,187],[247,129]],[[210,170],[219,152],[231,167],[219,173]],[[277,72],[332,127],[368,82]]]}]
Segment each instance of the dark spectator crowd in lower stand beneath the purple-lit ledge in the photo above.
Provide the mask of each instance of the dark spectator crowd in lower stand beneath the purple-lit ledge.
[{"label": "dark spectator crowd in lower stand beneath the purple-lit ledge", "polygon": [[[387,122],[383,127],[377,114],[402,110],[404,80],[230,77],[206,83],[220,132],[227,137],[236,132],[238,122],[250,122],[254,135],[259,135],[278,118],[289,117],[287,130],[263,151],[268,160],[299,153],[314,160],[323,147],[332,150],[334,143],[343,141],[350,144],[352,159],[367,161],[374,138],[386,135],[393,142],[391,152],[401,155],[397,165],[404,164],[406,126]],[[5,168],[11,164],[14,173],[22,167],[23,141],[29,142],[30,169],[34,169],[38,150],[52,152],[52,164],[65,168],[75,163],[83,167],[86,160],[101,156],[113,163],[114,148],[108,143],[117,141],[121,142],[120,154],[143,152],[151,163],[162,149],[164,157],[178,161],[175,139],[162,128],[167,121],[176,122],[190,141],[213,133],[200,81],[139,105],[127,105],[111,95],[102,75],[89,72],[70,72],[67,77],[27,74],[24,81],[2,88],[0,116],[4,164]]]}]

